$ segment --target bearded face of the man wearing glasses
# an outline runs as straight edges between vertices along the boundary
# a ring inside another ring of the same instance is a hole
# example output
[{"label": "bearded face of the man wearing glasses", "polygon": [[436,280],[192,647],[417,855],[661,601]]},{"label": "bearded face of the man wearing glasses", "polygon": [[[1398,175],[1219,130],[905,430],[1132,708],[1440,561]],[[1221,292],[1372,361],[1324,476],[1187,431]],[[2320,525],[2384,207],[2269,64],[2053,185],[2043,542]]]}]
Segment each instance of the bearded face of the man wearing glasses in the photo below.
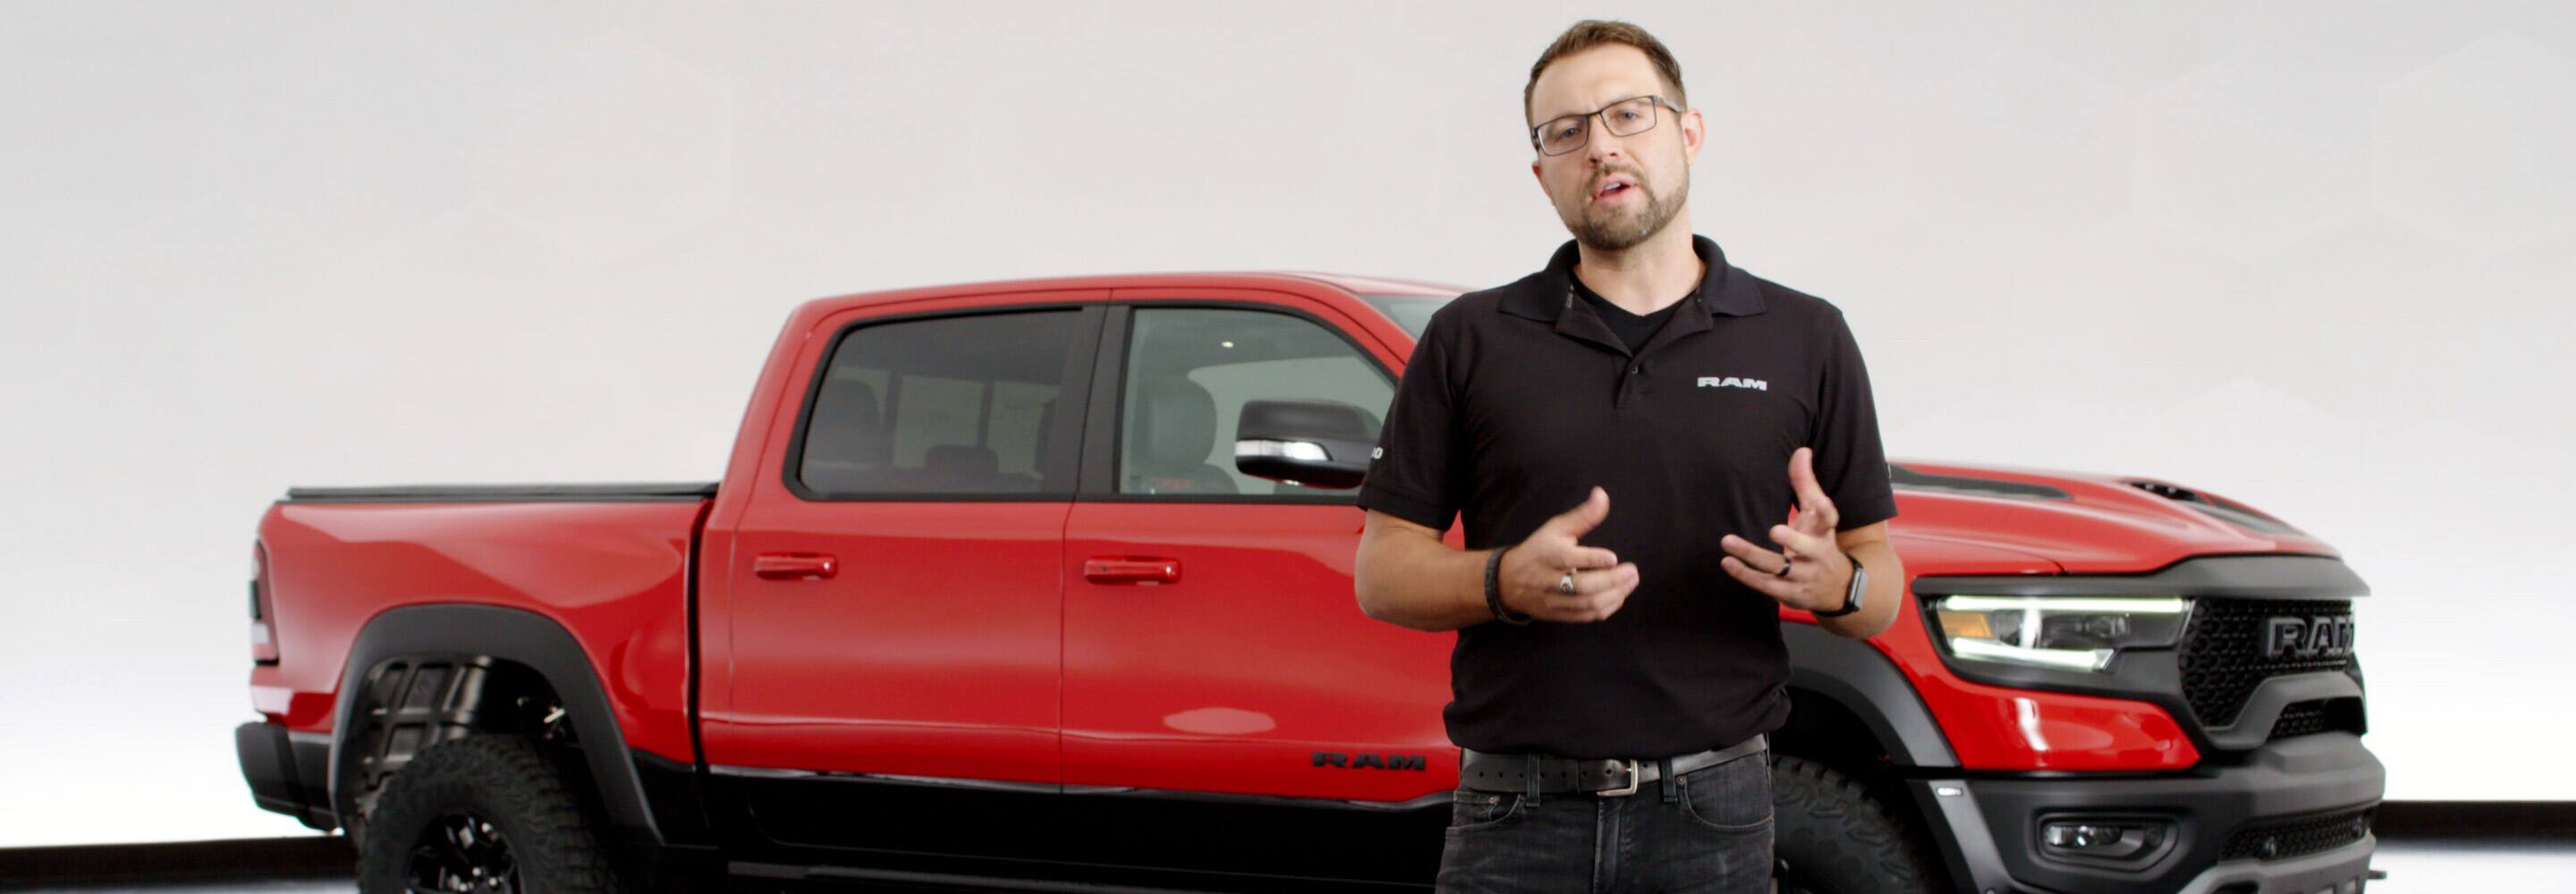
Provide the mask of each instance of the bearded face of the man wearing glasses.
[{"label": "bearded face of the man wearing glasses", "polygon": [[[1595,111],[1633,95],[1672,90],[1656,77],[1646,52],[1628,44],[1602,44],[1548,62],[1530,90],[1530,124]],[[1584,121],[1592,131],[1566,155],[1538,155],[1530,173],[1548,193],[1566,232],[1592,250],[1628,250],[1646,242],[1690,204],[1690,160],[1700,155],[1700,113],[1674,113],[1656,106],[1654,126],[1641,134],[1610,137],[1600,116]]]}]

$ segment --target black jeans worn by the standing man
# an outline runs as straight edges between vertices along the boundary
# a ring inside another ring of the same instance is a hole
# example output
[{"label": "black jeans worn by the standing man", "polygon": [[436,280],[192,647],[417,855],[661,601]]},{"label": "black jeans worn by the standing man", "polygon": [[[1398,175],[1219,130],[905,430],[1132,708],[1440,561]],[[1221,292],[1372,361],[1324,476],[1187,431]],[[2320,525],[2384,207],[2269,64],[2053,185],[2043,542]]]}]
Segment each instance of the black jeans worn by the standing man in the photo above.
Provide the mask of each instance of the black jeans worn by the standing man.
[{"label": "black jeans worn by the standing man", "polygon": [[1455,791],[1440,894],[1770,891],[1770,752],[1628,796]]}]

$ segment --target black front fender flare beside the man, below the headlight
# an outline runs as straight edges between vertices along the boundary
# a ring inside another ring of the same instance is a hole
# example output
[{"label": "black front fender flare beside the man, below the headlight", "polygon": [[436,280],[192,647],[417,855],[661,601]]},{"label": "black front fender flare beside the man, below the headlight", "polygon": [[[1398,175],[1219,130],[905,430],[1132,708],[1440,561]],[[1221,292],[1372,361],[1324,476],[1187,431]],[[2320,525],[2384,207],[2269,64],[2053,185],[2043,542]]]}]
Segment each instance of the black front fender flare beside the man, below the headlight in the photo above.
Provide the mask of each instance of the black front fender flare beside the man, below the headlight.
[{"label": "black front fender flare beside the man, below the headlight", "polygon": [[1780,623],[1780,639],[1788,642],[1788,685],[1852,711],[1888,750],[1888,760],[1911,768],[1958,765],[1922,696],[1875,647],[1814,623]]}]

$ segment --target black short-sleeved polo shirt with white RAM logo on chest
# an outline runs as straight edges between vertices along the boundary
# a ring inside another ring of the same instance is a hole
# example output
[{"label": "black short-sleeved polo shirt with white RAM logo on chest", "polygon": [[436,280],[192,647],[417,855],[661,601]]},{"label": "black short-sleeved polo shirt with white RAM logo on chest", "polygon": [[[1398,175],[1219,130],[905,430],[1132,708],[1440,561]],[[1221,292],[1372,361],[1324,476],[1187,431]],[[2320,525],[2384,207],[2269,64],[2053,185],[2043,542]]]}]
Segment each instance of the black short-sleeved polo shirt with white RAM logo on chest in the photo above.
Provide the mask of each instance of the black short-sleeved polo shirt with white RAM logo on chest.
[{"label": "black short-sleeved polo shirt with white RAM logo on chest", "polygon": [[1597,623],[1484,621],[1450,652],[1450,742],[1479,752],[1664,757],[1788,719],[1780,603],[1718,567],[1718,538],[1777,549],[1788,459],[1850,531],[1896,515],[1870,376],[1842,309],[1744,273],[1708,237],[1700,289],[1641,350],[1571,294],[1569,240],[1546,271],[1463,294],[1430,317],[1396,381],[1358,505],[1517,544],[1600,484],[1584,533],[1636,562],[1638,587]]}]

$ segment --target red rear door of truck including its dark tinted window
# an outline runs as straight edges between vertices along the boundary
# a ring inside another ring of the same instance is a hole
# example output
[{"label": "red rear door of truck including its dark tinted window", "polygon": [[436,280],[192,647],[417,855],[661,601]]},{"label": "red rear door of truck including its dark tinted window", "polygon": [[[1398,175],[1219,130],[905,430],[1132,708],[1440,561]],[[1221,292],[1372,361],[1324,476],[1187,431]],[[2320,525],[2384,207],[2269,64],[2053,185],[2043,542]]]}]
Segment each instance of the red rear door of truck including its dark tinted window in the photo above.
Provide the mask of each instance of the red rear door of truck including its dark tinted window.
[{"label": "red rear door of truck including its dark tinted window", "polygon": [[[1054,801],[1105,291],[827,317],[708,600],[703,747],[775,842],[1010,855]],[[783,443],[781,443],[783,441]],[[719,616],[721,613],[721,616]]]}]

